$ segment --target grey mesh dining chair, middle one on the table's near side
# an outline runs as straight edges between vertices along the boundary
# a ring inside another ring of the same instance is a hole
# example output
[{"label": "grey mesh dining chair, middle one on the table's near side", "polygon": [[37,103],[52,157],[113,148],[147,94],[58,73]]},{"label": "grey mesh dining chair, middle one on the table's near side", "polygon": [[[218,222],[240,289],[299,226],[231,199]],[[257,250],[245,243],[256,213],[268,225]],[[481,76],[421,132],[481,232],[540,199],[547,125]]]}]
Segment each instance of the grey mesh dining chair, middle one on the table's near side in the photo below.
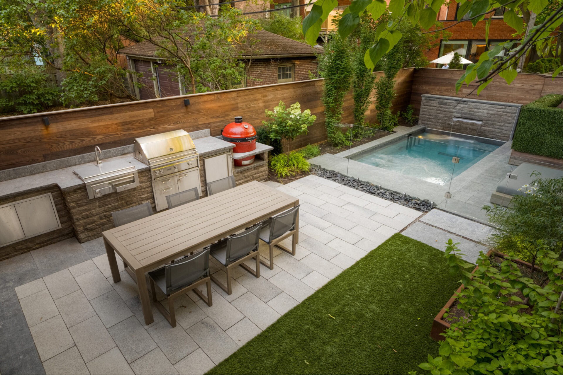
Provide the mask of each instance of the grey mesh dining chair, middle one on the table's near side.
[{"label": "grey mesh dining chair, middle one on the table's near side", "polygon": [[[227,285],[217,280],[211,275],[214,283],[227,292],[228,295],[233,293],[231,287],[231,270],[240,265],[242,268],[253,274],[257,278],[260,277],[260,252],[258,252],[258,237],[260,236],[261,224],[254,225],[246,231],[233,234],[216,243],[213,243],[206,249],[211,251],[211,255],[222,265],[225,266],[227,273]],[[256,271],[244,264],[245,261],[256,258]]]}]

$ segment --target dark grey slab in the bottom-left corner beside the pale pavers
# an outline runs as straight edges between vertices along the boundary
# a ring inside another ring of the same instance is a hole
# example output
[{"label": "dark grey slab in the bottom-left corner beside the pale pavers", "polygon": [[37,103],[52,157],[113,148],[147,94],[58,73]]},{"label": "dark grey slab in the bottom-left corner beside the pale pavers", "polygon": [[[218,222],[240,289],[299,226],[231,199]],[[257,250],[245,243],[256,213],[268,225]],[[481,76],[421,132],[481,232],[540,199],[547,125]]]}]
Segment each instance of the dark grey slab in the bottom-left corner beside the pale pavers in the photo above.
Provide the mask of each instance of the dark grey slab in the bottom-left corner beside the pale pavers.
[{"label": "dark grey slab in the bottom-left corner beside the pale pavers", "polygon": [[0,292],[0,373],[44,374],[14,289]]}]

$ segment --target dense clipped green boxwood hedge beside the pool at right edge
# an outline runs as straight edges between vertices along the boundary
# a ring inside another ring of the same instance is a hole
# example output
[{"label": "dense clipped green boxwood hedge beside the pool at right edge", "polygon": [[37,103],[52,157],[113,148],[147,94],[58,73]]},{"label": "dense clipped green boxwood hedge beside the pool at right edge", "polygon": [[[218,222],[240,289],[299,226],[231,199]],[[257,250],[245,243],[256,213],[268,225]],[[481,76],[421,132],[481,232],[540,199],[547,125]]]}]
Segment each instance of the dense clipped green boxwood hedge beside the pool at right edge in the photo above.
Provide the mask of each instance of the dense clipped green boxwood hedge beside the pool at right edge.
[{"label": "dense clipped green boxwood hedge beside the pool at right edge", "polygon": [[513,150],[563,159],[563,95],[548,94],[522,107]]}]

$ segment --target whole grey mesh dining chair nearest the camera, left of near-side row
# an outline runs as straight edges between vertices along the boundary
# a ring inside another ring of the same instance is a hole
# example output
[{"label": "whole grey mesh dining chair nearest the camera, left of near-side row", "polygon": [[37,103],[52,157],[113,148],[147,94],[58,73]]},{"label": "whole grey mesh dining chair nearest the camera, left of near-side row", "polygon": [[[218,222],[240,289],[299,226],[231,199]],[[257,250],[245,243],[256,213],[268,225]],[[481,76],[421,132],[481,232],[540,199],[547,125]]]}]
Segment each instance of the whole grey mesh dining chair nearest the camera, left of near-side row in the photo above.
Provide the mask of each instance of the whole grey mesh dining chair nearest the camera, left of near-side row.
[{"label": "whole grey mesh dining chair nearest the camera, left of near-side row", "polygon": [[[175,263],[167,264],[164,268],[149,272],[149,281],[154,304],[172,327],[176,327],[174,299],[177,296],[193,290],[207,305],[213,305],[209,277],[209,250],[200,251]],[[158,302],[155,284],[166,294],[168,311]],[[207,284],[207,296],[198,289],[203,284]]]}]

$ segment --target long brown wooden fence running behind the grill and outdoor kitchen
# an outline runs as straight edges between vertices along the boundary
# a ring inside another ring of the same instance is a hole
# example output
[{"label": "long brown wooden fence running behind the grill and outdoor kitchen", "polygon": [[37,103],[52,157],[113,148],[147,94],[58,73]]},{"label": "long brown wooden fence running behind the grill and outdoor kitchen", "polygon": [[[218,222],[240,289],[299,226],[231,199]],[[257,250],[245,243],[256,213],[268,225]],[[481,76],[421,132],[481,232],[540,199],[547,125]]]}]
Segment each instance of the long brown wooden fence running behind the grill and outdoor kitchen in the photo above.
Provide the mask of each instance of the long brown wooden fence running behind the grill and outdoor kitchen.
[{"label": "long brown wooden fence running behind the grill and outdoor kitchen", "polygon": [[[413,76],[414,69],[403,69],[397,75],[394,112],[409,104]],[[137,137],[176,129],[194,132],[209,128],[211,135],[220,135],[235,116],[259,126],[266,120],[264,110],[273,109],[280,100],[288,106],[300,102],[302,110],[310,109],[317,116],[309,133],[291,144],[294,149],[301,148],[327,139],[322,93],[323,80],[314,79],[0,118],[0,170],[92,152],[96,145],[102,150],[124,146]],[[189,99],[190,105],[185,106],[184,99]],[[353,109],[349,93],[343,122],[354,121]],[[43,124],[44,117],[50,125]],[[372,105],[367,120],[375,119]]]}]

